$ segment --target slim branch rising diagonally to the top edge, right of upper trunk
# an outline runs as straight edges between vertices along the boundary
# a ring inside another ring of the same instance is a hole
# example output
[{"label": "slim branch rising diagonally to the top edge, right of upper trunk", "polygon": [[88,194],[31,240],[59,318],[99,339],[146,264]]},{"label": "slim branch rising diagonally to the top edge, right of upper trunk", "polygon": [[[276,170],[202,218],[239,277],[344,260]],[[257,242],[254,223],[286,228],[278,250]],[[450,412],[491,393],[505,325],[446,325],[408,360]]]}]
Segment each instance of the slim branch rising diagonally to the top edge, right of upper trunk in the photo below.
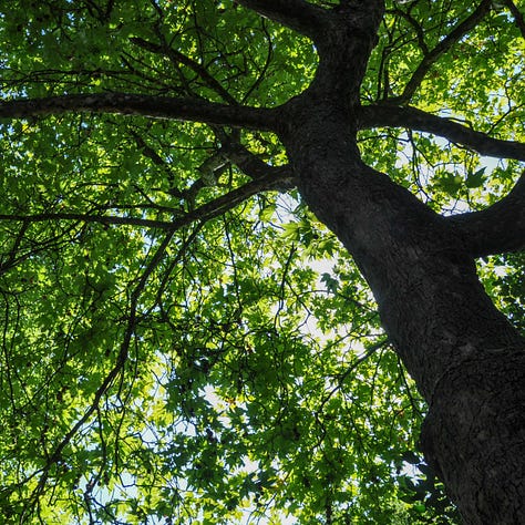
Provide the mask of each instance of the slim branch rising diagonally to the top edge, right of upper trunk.
[{"label": "slim branch rising diagonally to the top edge, right of upper trunk", "polygon": [[393,96],[388,101],[391,104],[403,104],[408,102],[415,93],[426,73],[434,65],[437,59],[449,51],[456,42],[459,42],[471,29],[475,28],[477,23],[483,20],[483,17],[491,10],[492,1],[482,0],[477,8],[463,22],[456,25],[437,45],[423,56],[420,65],[413,72],[411,79],[404,86],[403,93],[399,96]]}]

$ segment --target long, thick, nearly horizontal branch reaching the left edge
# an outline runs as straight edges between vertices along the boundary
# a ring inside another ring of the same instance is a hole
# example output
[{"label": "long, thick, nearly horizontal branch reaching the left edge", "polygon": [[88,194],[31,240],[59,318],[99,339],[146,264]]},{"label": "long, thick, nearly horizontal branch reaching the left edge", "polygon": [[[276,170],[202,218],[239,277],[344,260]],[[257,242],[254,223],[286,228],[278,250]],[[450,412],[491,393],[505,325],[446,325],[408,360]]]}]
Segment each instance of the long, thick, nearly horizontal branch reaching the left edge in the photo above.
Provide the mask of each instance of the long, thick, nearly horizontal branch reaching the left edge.
[{"label": "long, thick, nearly horizontal branch reaching the left edge", "polygon": [[198,99],[130,93],[93,93],[0,102],[0,119],[50,116],[69,112],[119,113],[260,131],[276,128],[276,113],[272,110],[217,104]]}]

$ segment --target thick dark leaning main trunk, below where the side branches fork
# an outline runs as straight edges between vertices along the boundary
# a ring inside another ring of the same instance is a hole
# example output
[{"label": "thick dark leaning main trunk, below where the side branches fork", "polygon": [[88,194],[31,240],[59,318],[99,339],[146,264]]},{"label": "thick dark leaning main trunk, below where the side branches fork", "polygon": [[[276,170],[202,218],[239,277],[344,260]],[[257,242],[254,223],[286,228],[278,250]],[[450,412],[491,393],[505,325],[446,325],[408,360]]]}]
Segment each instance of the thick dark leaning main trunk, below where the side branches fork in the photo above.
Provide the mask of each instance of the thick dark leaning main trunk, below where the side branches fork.
[{"label": "thick dark leaning main trunk, below where the side branches fork", "polygon": [[453,227],[361,162],[351,112],[301,100],[287,122],[302,197],[353,256],[429,403],[428,461],[466,524],[524,524],[524,340]]}]

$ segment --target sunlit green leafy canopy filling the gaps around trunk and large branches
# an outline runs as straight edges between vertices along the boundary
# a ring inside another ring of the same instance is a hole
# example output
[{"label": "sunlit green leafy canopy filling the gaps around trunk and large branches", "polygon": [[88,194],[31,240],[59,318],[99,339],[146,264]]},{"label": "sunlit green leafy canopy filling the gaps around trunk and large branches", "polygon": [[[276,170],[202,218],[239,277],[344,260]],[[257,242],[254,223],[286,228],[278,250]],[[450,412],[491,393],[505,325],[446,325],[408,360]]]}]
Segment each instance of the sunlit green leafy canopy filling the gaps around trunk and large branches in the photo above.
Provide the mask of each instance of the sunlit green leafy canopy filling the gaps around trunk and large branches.
[{"label": "sunlit green leafy canopy filling the gaps around trunk and large branches", "polygon": [[[389,2],[363,102],[401,95],[471,9]],[[19,0],[0,34],[6,100],[276,106],[317,64],[307,39],[231,1]],[[524,51],[494,9],[412,104],[523,140]],[[224,143],[281,166],[274,135],[72,113],[6,121],[1,137],[2,523],[454,523],[410,453],[425,408],[338,240],[295,191],[207,212],[249,181]],[[517,169],[412,131],[360,145],[444,213],[485,207]],[[480,261],[521,328],[523,262]]]}]

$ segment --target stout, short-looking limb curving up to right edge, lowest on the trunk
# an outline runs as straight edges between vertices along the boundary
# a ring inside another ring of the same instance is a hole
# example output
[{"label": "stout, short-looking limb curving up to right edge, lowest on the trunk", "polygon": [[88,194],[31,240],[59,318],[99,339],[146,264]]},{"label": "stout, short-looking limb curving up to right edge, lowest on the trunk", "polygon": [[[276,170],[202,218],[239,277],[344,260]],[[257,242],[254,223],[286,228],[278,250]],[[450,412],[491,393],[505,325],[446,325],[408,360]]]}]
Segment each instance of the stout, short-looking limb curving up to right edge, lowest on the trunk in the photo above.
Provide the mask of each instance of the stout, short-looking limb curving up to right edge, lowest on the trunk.
[{"label": "stout, short-looking limb curving up to right edge, lowest on the trunk", "polygon": [[453,215],[446,220],[460,233],[474,257],[524,249],[525,172],[513,191],[488,208]]}]

